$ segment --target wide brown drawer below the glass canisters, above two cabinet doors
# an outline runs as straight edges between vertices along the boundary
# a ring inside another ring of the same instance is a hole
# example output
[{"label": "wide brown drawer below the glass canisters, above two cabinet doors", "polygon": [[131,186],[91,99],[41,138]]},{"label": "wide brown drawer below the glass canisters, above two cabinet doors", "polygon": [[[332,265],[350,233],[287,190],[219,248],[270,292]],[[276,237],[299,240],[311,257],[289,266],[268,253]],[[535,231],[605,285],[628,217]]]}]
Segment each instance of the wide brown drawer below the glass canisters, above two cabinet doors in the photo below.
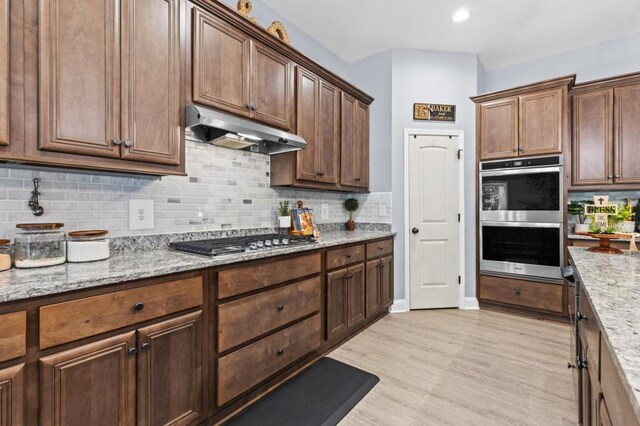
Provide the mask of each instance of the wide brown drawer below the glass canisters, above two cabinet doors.
[{"label": "wide brown drawer below the glass canisters, above two cabinet doors", "polygon": [[[40,348],[95,336],[202,305],[201,276],[40,308]],[[142,309],[134,306],[142,304]]]}]

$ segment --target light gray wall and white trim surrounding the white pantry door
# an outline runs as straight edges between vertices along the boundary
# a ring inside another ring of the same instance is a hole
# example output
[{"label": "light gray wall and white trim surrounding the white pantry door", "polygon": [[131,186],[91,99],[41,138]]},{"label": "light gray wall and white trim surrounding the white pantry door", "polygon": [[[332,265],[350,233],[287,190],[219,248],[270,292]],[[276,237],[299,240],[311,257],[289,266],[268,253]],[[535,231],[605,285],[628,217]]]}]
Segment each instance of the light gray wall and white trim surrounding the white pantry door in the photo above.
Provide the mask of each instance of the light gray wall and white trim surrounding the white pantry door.
[{"label": "light gray wall and white trim surrounding the white pantry door", "polygon": [[[396,299],[404,299],[404,129],[464,131],[465,238],[475,235],[475,109],[469,99],[477,92],[478,61],[475,54],[393,49],[392,52],[392,226],[396,238]],[[456,122],[427,123],[413,120],[414,102],[457,106]],[[466,238],[466,295],[475,295],[475,239]]]}]

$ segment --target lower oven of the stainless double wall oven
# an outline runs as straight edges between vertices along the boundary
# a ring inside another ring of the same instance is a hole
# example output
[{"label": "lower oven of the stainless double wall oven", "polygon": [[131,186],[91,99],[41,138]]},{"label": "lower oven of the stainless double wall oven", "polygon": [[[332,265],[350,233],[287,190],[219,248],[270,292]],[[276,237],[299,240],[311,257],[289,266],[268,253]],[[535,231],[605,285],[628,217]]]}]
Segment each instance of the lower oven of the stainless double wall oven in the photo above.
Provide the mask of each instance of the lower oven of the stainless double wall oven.
[{"label": "lower oven of the stainless double wall oven", "polygon": [[562,223],[480,222],[480,270],[559,279]]}]

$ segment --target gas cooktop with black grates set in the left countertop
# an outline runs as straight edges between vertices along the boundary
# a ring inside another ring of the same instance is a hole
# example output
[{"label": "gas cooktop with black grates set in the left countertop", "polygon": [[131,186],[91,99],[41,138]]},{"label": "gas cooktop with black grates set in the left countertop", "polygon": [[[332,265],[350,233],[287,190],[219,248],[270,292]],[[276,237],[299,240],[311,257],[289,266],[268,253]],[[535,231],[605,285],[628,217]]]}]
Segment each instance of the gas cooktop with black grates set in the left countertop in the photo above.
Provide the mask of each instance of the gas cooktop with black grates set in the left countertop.
[{"label": "gas cooktop with black grates set in the left countertop", "polygon": [[203,256],[220,256],[233,253],[245,253],[256,250],[269,250],[279,247],[313,244],[316,239],[305,236],[281,234],[262,234],[247,237],[215,238],[197,241],[176,241],[169,247],[186,253]]}]

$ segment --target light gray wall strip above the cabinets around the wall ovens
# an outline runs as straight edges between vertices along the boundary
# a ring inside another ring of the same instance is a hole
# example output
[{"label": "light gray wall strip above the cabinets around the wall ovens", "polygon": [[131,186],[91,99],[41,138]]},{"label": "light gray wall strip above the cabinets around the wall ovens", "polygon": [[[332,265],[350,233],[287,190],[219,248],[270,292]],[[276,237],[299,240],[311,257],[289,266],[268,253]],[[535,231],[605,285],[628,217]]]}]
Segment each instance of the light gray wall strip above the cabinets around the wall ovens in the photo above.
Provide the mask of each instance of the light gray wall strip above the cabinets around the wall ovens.
[{"label": "light gray wall strip above the cabinets around the wall ovens", "polygon": [[485,92],[567,74],[589,81],[640,71],[640,33],[486,72]]}]

